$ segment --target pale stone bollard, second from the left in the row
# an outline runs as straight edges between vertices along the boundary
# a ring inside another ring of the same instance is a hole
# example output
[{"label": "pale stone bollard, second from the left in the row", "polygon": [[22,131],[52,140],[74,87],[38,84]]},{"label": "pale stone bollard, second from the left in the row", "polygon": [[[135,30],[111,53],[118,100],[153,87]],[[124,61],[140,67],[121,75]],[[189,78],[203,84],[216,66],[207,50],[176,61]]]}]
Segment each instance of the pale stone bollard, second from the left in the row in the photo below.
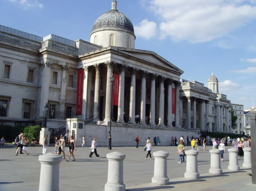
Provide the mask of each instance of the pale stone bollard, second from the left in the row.
[{"label": "pale stone bollard, second from the left in the row", "polygon": [[112,152],[107,154],[108,174],[105,191],[125,191],[124,166],[125,154]]}]

